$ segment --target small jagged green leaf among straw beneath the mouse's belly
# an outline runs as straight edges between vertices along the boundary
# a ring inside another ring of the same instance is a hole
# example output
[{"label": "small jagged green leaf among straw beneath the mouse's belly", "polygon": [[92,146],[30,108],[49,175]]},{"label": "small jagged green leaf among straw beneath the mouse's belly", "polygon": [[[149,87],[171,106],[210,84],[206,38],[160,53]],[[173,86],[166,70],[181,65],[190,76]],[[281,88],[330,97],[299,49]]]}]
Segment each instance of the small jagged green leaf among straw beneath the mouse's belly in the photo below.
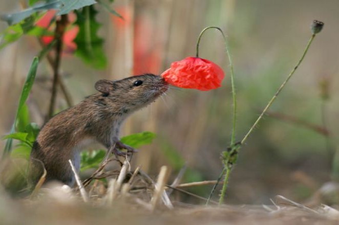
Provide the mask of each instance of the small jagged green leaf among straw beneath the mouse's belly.
[{"label": "small jagged green leaf among straw beneath the mouse's belly", "polygon": [[106,154],[106,151],[104,150],[81,152],[80,153],[80,157],[81,157],[80,171],[84,171],[90,168],[98,168],[105,154]]}]

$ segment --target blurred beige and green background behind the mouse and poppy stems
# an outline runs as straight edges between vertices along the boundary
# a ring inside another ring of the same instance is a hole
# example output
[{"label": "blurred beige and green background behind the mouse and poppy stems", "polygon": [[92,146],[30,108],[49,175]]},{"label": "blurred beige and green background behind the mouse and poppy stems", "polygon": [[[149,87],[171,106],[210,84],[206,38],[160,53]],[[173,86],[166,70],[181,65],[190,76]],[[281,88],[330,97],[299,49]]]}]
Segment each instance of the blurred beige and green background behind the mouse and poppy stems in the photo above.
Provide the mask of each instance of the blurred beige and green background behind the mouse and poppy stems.
[{"label": "blurred beige and green background behind the mouse and poppy stems", "polygon": [[[22,10],[22,6],[20,1],[0,2],[2,13]],[[336,180],[338,1],[116,0],[112,8],[124,20],[96,6],[102,24],[99,36],[104,39],[107,55],[105,68],[93,69],[72,50],[62,55],[61,77],[72,101],[78,103],[95,93],[94,83],[102,78],[161,74],[171,62],[195,55],[203,28],[218,26],[227,35],[234,62],[237,140],[243,138],[298,62],[311,36],[311,21],[323,21],[323,32],[316,36],[304,62],[270,108],[270,115],[241,148],[226,202],[263,204],[277,194],[307,201],[323,184]],[[6,27],[1,22],[0,30]],[[35,37],[24,36],[0,51],[1,134],[10,130],[18,95],[40,50]],[[174,178],[186,165],[182,180],[186,183],[216,179],[222,169],[220,153],[230,141],[232,103],[229,62],[218,31],[204,34],[200,57],[224,69],[226,78],[221,88],[209,92],[170,89],[163,99],[135,113],[123,127],[123,135],[141,131],[157,134],[156,141],[140,149],[133,162],[149,174],[156,175],[161,165],[168,165]],[[52,74],[44,59],[28,99],[31,120],[39,125],[48,112]],[[57,111],[67,107],[58,92]],[[1,149],[4,145],[0,142]],[[210,189],[204,186],[189,191],[207,197]]]}]

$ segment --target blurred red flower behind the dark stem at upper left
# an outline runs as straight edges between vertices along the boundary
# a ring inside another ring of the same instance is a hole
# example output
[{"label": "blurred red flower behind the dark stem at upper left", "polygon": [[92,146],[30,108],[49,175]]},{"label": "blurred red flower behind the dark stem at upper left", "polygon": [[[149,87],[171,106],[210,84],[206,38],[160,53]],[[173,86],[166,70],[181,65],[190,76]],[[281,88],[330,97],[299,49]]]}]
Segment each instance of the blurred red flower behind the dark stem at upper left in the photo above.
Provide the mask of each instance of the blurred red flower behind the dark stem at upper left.
[{"label": "blurred red flower behind the dark stem at upper left", "polygon": [[[57,12],[56,10],[49,10],[41,19],[39,19],[36,22],[36,26],[42,27],[42,28],[48,28],[56,12]],[[70,13],[69,20],[71,24],[73,24],[75,19],[76,19],[75,14]],[[54,30],[54,29],[51,26],[49,30]],[[76,35],[78,34],[78,32],[79,32],[78,26],[70,25],[67,27],[67,30],[65,34],[63,34],[63,39],[62,39],[63,45],[64,45],[63,53],[73,53],[76,50],[77,46],[76,46],[76,43],[74,42],[74,39]],[[51,35],[41,37],[41,41],[43,41],[45,45],[51,43],[53,39],[54,39],[54,36],[51,36]]]}]

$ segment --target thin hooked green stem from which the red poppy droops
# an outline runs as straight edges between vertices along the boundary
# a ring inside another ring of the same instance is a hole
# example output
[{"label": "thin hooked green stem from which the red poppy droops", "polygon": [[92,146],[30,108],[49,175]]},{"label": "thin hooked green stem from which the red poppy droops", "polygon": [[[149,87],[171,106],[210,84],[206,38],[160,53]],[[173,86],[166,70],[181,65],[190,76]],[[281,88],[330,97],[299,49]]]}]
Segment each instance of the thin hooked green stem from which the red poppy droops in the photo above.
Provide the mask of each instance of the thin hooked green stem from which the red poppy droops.
[{"label": "thin hooked green stem from which the red poppy droops", "polygon": [[[236,98],[236,88],[235,88],[235,82],[234,82],[234,70],[233,70],[233,63],[232,63],[232,59],[228,50],[228,44],[227,44],[227,40],[226,40],[226,36],[224,34],[224,32],[219,28],[219,27],[206,27],[205,29],[203,29],[198,37],[198,41],[197,41],[197,54],[196,57],[199,57],[199,43],[200,43],[200,39],[202,34],[208,30],[208,29],[217,29],[218,31],[220,31],[220,33],[222,34],[222,37],[224,38],[224,43],[225,43],[225,49],[226,49],[226,54],[228,57],[228,61],[229,61],[229,65],[230,65],[230,77],[231,77],[231,87],[232,87],[232,101],[233,101],[233,118],[232,118],[232,133],[231,133],[231,140],[230,140],[230,146],[234,146],[235,145],[235,141],[236,141],[236,126],[237,126],[237,98]],[[225,161],[223,161],[224,163],[224,169],[222,170],[219,179],[224,175],[224,173],[226,172],[226,176],[224,179],[224,184],[223,184],[223,191],[221,193],[220,199],[219,199],[219,203],[222,203],[222,199],[224,198],[225,192],[226,192],[226,188],[227,188],[227,183],[228,183],[228,177],[229,177],[229,173],[230,173],[230,167],[225,164]],[[211,195],[213,194],[214,190],[216,189],[218,183],[213,187],[212,191],[210,192],[208,199],[210,199]],[[206,202],[206,204],[208,204],[208,200]]]}]

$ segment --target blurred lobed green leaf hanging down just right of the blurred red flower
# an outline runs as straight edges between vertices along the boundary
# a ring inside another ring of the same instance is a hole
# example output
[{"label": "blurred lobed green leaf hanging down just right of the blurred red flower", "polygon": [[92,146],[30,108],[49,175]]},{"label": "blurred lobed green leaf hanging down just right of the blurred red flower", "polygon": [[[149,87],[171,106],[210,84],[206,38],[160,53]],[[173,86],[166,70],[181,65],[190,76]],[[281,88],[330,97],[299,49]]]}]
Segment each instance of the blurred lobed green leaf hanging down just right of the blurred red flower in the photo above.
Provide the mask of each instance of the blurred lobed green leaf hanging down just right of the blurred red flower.
[{"label": "blurred lobed green leaf hanging down just right of the blurred red flower", "polygon": [[104,69],[107,58],[103,51],[103,39],[97,35],[101,26],[95,20],[97,11],[93,6],[87,6],[75,12],[77,15],[75,24],[79,26],[79,33],[74,40],[77,44],[75,55],[95,69]]}]

